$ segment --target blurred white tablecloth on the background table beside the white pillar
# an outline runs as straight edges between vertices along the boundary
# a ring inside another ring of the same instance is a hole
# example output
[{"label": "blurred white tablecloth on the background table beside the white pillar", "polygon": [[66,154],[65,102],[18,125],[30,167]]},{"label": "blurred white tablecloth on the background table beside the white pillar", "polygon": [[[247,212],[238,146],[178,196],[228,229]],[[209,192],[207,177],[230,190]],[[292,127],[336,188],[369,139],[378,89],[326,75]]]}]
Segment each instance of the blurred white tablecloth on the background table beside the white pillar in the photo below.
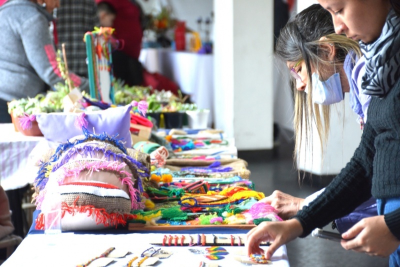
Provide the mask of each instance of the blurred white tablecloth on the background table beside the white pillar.
[{"label": "blurred white tablecloth on the background table beside the white pillar", "polygon": [[139,61],[150,72],[159,72],[175,81],[182,92],[190,94],[190,99],[198,108],[209,109],[209,125],[213,120],[213,55],[167,48],[141,49]]}]

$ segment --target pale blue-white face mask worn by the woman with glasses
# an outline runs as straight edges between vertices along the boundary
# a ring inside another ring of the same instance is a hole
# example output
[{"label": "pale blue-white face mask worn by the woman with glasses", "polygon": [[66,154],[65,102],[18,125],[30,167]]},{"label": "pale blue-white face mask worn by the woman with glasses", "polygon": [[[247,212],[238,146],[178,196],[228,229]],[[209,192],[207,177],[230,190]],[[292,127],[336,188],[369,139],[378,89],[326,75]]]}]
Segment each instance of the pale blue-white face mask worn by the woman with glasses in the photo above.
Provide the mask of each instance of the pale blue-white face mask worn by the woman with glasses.
[{"label": "pale blue-white face mask worn by the woman with glasses", "polygon": [[[334,73],[327,80],[319,80],[317,73],[312,73],[312,101],[316,104],[330,105],[343,100],[343,91],[341,89],[340,75]],[[305,88],[307,92],[308,86]]]}]

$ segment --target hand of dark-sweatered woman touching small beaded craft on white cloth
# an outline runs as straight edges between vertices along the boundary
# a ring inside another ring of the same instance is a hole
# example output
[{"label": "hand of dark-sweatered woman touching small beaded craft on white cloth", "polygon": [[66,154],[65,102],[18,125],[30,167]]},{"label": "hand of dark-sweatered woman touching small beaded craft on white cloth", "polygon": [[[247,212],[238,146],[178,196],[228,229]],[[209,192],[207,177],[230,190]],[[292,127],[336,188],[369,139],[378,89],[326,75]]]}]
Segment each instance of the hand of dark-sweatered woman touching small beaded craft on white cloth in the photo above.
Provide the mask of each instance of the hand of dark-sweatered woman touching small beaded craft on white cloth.
[{"label": "hand of dark-sweatered woman touching small beaded craft on white cloth", "polygon": [[[302,231],[303,228],[297,219],[263,221],[246,234],[247,254],[265,254],[266,259],[270,259],[279,246],[293,240]],[[271,242],[271,245],[264,251],[259,246],[261,242]]]}]

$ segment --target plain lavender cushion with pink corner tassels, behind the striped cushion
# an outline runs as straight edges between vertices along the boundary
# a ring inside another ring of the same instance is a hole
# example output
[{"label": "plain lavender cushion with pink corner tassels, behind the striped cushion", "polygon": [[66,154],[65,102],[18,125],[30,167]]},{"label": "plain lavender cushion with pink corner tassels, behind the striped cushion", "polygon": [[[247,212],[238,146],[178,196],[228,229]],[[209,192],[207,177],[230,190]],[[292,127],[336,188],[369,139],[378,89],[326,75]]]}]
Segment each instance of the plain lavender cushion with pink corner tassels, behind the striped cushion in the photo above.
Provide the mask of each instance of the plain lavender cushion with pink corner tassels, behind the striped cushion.
[{"label": "plain lavender cushion with pink corner tassels, behind the striped cushion", "polygon": [[118,135],[125,147],[132,147],[129,131],[131,108],[131,105],[126,105],[100,111],[86,111],[84,116],[82,113],[71,112],[39,113],[36,120],[40,131],[50,141],[65,142],[81,134],[84,126],[92,133],[106,132],[109,135]]}]

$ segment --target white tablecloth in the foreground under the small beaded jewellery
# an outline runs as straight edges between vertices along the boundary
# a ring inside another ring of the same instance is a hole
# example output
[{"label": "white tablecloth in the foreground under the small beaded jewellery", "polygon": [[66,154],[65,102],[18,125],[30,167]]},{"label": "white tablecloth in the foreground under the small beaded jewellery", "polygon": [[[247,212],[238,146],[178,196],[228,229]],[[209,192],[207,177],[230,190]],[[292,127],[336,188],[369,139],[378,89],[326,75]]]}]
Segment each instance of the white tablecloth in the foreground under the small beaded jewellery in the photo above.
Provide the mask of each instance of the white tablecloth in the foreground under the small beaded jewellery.
[{"label": "white tablecloth in the foreground under the small beaded jewellery", "polygon": [[[15,252],[1,265],[2,267],[15,266],[76,266],[86,262],[88,259],[99,255],[107,248],[113,246],[115,249],[126,250],[132,253],[141,253],[149,248],[151,244],[146,242],[149,234],[129,233],[129,234],[73,234],[61,233],[52,239],[49,244],[44,234],[29,234],[23,239]],[[155,246],[156,247],[156,246]],[[199,248],[201,247],[192,247]],[[234,255],[243,250],[243,246],[225,246],[229,254],[221,260],[208,260],[204,255],[193,254],[188,251],[188,247],[162,247],[162,249],[172,251],[173,254],[161,259],[156,266],[198,266],[200,261],[216,263],[221,267],[227,266],[249,266],[236,261]],[[115,259],[107,266],[126,266],[127,261],[132,256]],[[90,266],[90,265],[89,265]],[[260,266],[260,265],[253,265]],[[281,246],[272,256],[272,265],[268,266],[289,266],[286,247]]]}]

